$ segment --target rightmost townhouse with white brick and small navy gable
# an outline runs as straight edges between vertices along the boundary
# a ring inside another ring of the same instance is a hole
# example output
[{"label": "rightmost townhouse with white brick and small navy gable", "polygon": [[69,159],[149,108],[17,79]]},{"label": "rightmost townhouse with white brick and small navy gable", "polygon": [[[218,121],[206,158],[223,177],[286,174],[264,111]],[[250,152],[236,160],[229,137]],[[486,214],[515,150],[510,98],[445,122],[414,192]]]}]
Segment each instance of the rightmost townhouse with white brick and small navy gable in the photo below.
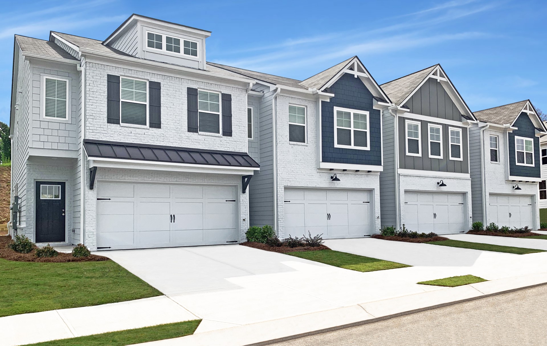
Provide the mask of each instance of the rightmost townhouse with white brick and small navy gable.
[{"label": "rightmost townhouse with white brick and small navy gable", "polygon": [[545,124],[529,100],[475,116],[479,122],[469,129],[473,220],[539,228],[538,205],[545,198],[540,167],[547,156],[547,149],[540,151],[539,137],[547,134]]}]

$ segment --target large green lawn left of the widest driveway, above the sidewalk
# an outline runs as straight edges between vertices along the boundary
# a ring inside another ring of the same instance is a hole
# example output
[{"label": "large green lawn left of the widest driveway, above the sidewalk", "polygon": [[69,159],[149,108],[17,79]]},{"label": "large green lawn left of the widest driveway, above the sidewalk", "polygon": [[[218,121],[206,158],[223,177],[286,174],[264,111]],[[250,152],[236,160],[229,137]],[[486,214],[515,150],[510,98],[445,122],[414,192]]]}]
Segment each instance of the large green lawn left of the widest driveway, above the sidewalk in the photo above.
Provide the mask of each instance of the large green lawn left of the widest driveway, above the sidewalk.
[{"label": "large green lawn left of the widest driveway, above the sidewalk", "polygon": [[0,317],[159,295],[160,291],[114,261],[36,263],[0,259]]}]

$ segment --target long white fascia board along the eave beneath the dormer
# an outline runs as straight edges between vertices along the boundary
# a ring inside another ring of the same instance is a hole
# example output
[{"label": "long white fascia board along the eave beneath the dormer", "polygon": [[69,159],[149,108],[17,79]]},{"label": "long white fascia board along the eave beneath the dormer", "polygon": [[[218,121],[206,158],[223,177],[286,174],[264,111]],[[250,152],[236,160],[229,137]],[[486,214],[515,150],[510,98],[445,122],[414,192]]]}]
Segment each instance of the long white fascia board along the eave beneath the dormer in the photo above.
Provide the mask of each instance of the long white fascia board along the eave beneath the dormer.
[{"label": "long white fascia board along the eave beneath the dormer", "polygon": [[[161,69],[166,69],[167,71],[171,71],[171,72],[174,70],[174,71],[187,73],[187,74],[190,74],[190,75],[200,75],[200,76],[207,76],[207,77],[222,79],[222,80],[238,81],[238,82],[241,82],[241,83],[245,83],[246,87],[247,87],[248,83],[256,83],[255,80],[249,79],[249,78],[233,77],[233,76],[224,75],[224,74],[212,73],[212,72],[208,72],[208,71],[201,70],[201,69],[195,69],[195,68],[189,68],[189,67],[178,66],[178,65],[173,65],[173,64],[167,64],[167,63],[162,63],[162,62],[153,61],[153,60],[141,59],[141,58],[137,58],[137,57],[130,57],[130,56],[124,56],[124,55],[118,55],[118,54],[110,54],[110,53],[106,53],[106,52],[97,51],[97,50],[94,50],[94,49],[83,49],[82,48],[82,49],[80,49],[80,51],[82,52],[82,54],[88,54],[90,56],[96,56],[96,57],[101,57],[101,58],[106,58],[106,59],[112,59],[112,60],[117,61],[117,62],[124,61],[124,62],[129,62],[129,63],[134,63],[134,64],[142,64],[144,66],[158,67],[158,68],[161,68]],[[79,61],[77,63],[79,63]]]}]

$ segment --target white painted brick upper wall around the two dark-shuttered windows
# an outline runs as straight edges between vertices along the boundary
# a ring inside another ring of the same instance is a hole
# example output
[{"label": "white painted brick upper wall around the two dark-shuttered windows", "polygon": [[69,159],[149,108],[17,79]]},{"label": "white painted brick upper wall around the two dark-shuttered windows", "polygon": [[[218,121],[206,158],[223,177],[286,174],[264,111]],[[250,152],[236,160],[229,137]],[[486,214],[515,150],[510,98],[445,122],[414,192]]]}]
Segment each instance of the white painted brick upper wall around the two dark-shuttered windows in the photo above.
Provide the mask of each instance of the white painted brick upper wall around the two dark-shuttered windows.
[{"label": "white painted brick upper wall around the two dark-shuttered windows", "polygon": [[[147,129],[107,124],[108,74],[161,83],[161,128]],[[91,62],[86,63],[86,85],[85,138],[247,152],[245,89]],[[188,132],[188,87],[231,94],[232,137]]]}]

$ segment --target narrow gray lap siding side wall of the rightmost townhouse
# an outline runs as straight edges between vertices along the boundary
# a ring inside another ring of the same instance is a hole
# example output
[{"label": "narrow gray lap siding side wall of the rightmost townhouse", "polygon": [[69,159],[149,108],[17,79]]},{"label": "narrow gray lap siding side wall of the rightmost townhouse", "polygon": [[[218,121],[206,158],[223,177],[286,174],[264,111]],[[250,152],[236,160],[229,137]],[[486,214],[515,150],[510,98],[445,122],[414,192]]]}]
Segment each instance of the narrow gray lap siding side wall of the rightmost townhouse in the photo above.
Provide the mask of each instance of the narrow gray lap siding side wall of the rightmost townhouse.
[{"label": "narrow gray lap siding side wall of the rightmost townhouse", "polygon": [[481,134],[477,124],[469,128],[469,170],[471,177],[471,194],[473,221],[484,223],[482,215],[482,153],[481,153]]}]

